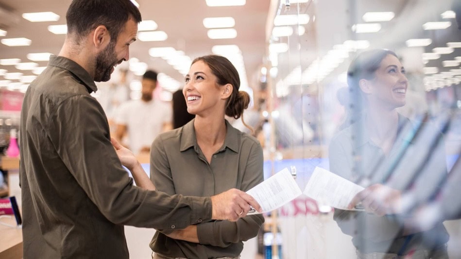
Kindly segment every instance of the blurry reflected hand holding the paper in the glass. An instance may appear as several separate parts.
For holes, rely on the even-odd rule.
[[[377,183],[356,194],[347,207],[352,210],[361,203],[365,211],[378,216],[398,213],[400,211],[400,196],[399,190]]]

